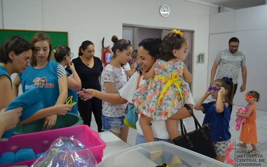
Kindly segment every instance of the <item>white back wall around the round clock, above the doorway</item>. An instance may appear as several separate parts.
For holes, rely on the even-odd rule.
[[[185,0],[2,0],[3,24],[9,29],[68,31],[69,47],[77,57],[82,41],[95,44],[95,56],[101,55],[101,40],[112,44],[112,35],[122,37],[122,24],[178,27],[195,30],[193,63],[193,96],[206,89],[207,66],[196,57],[209,48],[210,6]],[[162,17],[160,6],[170,7],[170,15]],[[1,9],[0,9],[1,10]]]

